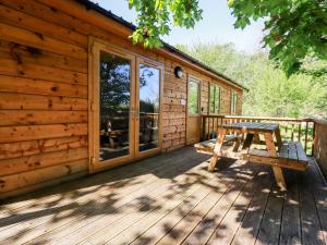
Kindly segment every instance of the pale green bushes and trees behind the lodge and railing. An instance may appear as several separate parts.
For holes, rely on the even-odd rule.
[[[247,87],[245,115],[327,118],[327,86],[322,76],[307,73],[287,77],[266,53],[245,54],[230,44],[178,48]],[[311,65],[311,70],[320,69]]]

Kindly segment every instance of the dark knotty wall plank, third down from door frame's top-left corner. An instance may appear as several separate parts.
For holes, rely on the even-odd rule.
[[[22,63],[87,73],[87,60],[75,59],[7,40],[0,40],[0,57],[5,59],[15,57]]]

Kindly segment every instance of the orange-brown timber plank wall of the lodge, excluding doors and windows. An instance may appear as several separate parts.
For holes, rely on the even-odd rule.
[[[239,87],[175,54],[133,46],[119,32],[131,30],[72,0],[0,0],[0,197],[87,174],[90,36],[165,64],[162,151],[185,145],[187,75],[202,81],[202,113],[208,84],[217,83],[221,113],[230,113],[235,90],[241,114]],[[177,65],[183,78],[175,78]]]

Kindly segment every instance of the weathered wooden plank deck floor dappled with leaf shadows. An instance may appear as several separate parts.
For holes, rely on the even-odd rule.
[[[0,244],[327,244],[327,186],[185,147],[0,206]]]

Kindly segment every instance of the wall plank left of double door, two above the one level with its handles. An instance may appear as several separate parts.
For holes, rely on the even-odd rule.
[[[87,98],[87,87],[0,75],[0,91]]]

